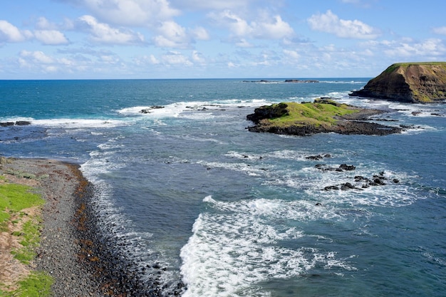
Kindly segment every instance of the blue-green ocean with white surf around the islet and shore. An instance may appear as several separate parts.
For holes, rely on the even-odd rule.
[[[165,296],[445,296],[446,105],[348,95],[368,79],[0,80],[0,122],[31,123],[0,127],[0,154],[81,165]],[[322,96],[406,129],[247,130],[256,107]]]

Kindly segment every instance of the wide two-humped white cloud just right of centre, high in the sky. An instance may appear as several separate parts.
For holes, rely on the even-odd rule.
[[[281,19],[281,16],[270,16],[263,13],[258,21],[248,22],[234,12],[226,9],[219,13],[211,13],[209,17],[220,26],[226,27],[234,36],[262,39],[281,39],[294,34],[293,28]]]

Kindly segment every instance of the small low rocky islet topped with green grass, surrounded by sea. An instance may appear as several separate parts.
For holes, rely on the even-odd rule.
[[[284,135],[313,135],[323,132],[339,134],[389,135],[401,132],[390,127],[366,122],[370,115],[383,113],[320,98],[313,103],[277,103],[256,108],[247,115],[256,125],[251,132],[271,132]]]

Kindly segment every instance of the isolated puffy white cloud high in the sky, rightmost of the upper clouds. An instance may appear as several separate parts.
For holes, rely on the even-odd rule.
[[[330,10],[326,14],[314,14],[307,21],[312,30],[332,33],[341,38],[373,39],[379,35],[378,29],[362,21],[339,19]]]

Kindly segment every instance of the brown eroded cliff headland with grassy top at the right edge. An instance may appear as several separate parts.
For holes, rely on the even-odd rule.
[[[413,103],[446,101],[446,62],[393,64],[351,95]]]

